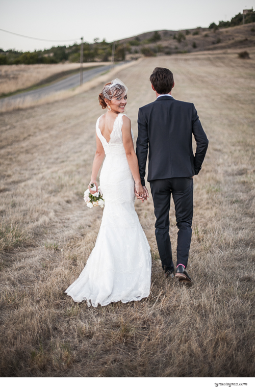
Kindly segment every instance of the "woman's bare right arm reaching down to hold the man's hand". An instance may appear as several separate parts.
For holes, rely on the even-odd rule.
[[[144,189],[142,187],[141,183],[141,177],[139,173],[139,167],[138,167],[138,161],[137,161],[137,156],[135,153],[134,149],[134,143],[132,139],[132,134],[131,134],[131,121],[129,117],[123,116],[123,125],[122,125],[122,140],[123,140],[123,146],[125,149],[126,153],[126,159],[129,164],[131,173],[133,175],[133,178],[135,180],[135,189],[136,193],[139,196],[142,196],[144,198]]]

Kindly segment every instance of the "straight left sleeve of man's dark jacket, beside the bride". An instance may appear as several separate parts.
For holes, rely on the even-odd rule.
[[[138,112],[138,137],[136,141],[136,154],[142,186],[145,186],[145,168],[148,154],[148,129],[141,108]]]

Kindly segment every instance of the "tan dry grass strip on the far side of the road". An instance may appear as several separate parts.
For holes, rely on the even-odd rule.
[[[109,63],[84,63],[83,67],[93,67],[98,65],[107,65]],[[19,64],[19,65],[1,65],[0,66],[0,95],[15,92],[17,90],[27,89],[49,76],[60,74],[62,72],[80,69],[77,63],[60,63],[60,64]]]

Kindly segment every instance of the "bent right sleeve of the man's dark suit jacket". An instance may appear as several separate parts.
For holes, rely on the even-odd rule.
[[[192,133],[196,141],[194,169],[195,169],[195,174],[198,174],[199,171],[201,170],[201,165],[203,163],[203,160],[205,159],[209,141],[207,139],[205,131],[202,128],[202,125],[200,123],[194,105],[193,105],[193,112],[192,112]]]

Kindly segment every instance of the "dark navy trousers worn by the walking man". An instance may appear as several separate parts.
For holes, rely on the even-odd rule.
[[[154,213],[157,218],[155,234],[162,268],[171,271],[173,267],[172,247],[169,236],[170,198],[173,197],[175,207],[177,237],[177,264],[187,267],[192,234],[193,218],[193,178],[176,177],[150,181],[150,189],[154,202]]]

